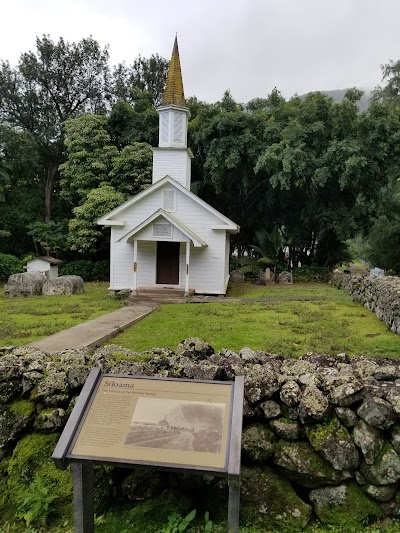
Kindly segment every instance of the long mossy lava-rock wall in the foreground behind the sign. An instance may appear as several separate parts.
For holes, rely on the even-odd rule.
[[[0,500],[9,509],[18,509],[38,476],[54,482],[50,509],[65,509],[69,473],[56,471],[49,456],[92,366],[174,378],[245,376],[243,523],[298,531],[312,517],[350,528],[400,516],[400,361],[314,353],[293,360],[250,348],[215,354],[195,338],[144,354],[115,345],[51,357],[0,349]],[[140,501],[168,483],[163,474],[103,470],[97,499]],[[184,483],[187,494],[199,482],[186,476]],[[227,501],[226,486],[209,476],[202,483],[215,512],[215,502]]]

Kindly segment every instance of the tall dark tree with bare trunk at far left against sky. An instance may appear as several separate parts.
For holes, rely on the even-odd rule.
[[[52,218],[58,166],[63,161],[62,128],[70,117],[104,110],[108,93],[108,51],[92,38],[69,43],[36,39],[36,53],[24,53],[16,68],[0,65],[0,119],[32,134],[42,160],[44,220]]]

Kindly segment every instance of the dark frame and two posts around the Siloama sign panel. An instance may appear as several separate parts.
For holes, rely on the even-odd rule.
[[[230,412],[228,415],[225,464],[221,467],[207,465],[179,464],[158,462],[154,460],[124,459],[121,457],[99,457],[74,455],[72,450],[84,427],[85,420],[93,404],[100,384],[106,378],[123,378],[130,380],[157,380],[168,382],[203,383],[230,387]],[[152,376],[131,376],[103,374],[99,368],[93,368],[82,388],[75,407],[61,434],[52,459],[57,468],[65,470],[71,465],[73,476],[74,529],[75,533],[94,532],[93,504],[93,465],[111,465],[122,468],[141,468],[174,472],[210,473],[226,477],[229,486],[228,533],[239,531],[240,507],[240,451],[242,440],[242,417],[244,398],[244,378],[236,376],[235,381],[205,381],[191,379],[160,378]]]

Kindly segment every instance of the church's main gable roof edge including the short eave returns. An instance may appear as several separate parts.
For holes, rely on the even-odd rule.
[[[230,233],[238,233],[240,228],[237,224],[235,224],[232,220],[230,220],[228,217],[217,211],[217,209],[214,209],[204,200],[201,200],[198,196],[196,196],[194,193],[183,187],[180,183],[176,182],[174,179],[172,179],[170,176],[165,176],[161,180],[157,181],[153,185],[150,185],[147,189],[142,191],[141,193],[137,194],[127,202],[121,204],[119,207],[113,209],[103,217],[101,217],[97,224],[103,225],[103,226],[124,226],[125,222],[123,220],[123,215],[126,211],[132,209],[136,204],[143,201],[145,198],[151,196],[156,191],[158,191],[160,188],[162,188],[166,184],[170,184],[172,187],[180,191],[182,194],[187,196],[190,200],[193,202],[196,202],[198,205],[206,209],[209,213],[216,216],[220,221],[220,225],[214,225],[212,226],[212,229],[218,229],[218,230],[226,230]],[[170,214],[170,216],[172,216]]]

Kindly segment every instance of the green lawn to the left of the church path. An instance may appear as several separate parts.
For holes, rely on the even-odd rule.
[[[110,313],[123,302],[108,298],[106,282],[85,283],[83,294],[5,298],[0,292],[0,346],[23,345]]]

